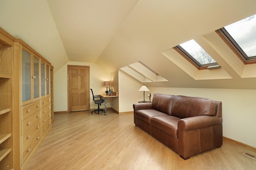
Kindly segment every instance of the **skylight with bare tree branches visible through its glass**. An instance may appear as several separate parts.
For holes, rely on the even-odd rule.
[[[194,39],[174,47],[183,57],[190,59],[192,64],[199,68],[216,65],[216,61]]]

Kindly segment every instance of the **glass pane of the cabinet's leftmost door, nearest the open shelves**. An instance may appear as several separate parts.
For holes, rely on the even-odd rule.
[[[31,100],[31,54],[22,49],[22,102]]]

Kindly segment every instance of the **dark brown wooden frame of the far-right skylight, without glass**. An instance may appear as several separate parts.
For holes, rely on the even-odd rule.
[[[216,30],[216,33],[222,38],[222,40],[228,45],[228,47],[230,47],[230,49],[244,64],[256,63],[256,56],[248,57],[224,27]]]

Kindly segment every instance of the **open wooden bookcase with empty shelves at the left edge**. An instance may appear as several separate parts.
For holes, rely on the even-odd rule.
[[[0,28],[0,170],[13,168],[13,45],[14,37]]]

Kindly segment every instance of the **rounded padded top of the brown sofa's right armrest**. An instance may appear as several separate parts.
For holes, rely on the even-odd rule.
[[[222,123],[222,117],[215,116],[195,116],[181,119],[178,122],[178,131],[188,131],[193,129],[200,129]]]

